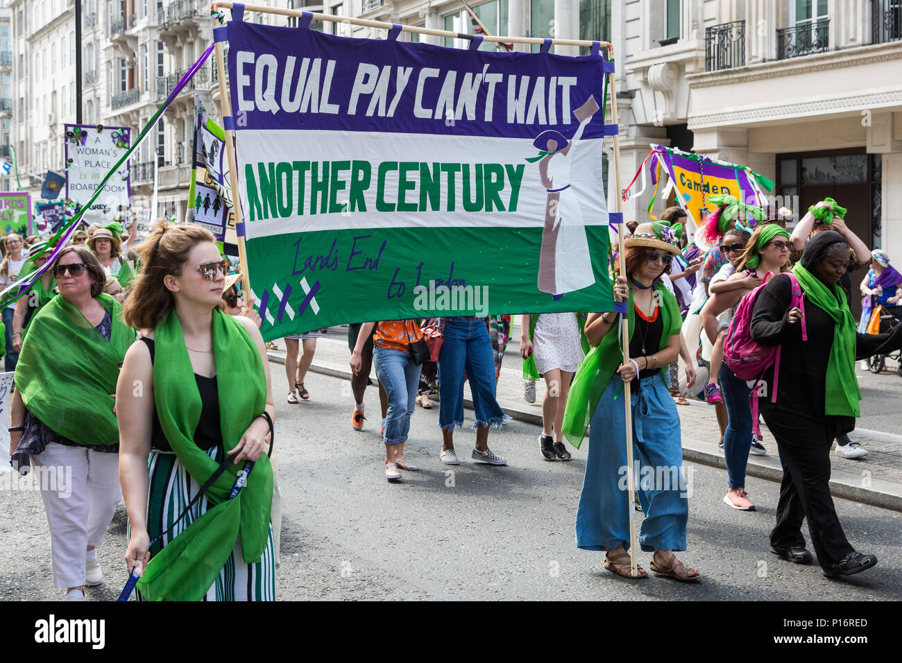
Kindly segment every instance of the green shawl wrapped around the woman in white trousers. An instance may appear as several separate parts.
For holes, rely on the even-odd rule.
[[[15,366],[25,407],[51,430],[79,445],[115,445],[113,413],[119,363],[134,342],[122,322],[122,305],[101,292],[97,300],[113,318],[109,341],[78,307],[54,297],[32,317],[28,341]]]

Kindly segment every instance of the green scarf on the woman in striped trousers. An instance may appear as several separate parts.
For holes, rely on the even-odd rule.
[[[257,346],[241,323],[213,311],[213,351],[223,446],[230,452],[266,405],[266,380]],[[170,312],[154,332],[153,394],[166,439],[195,481],[203,484],[217,463],[194,443],[202,403],[179,317]],[[229,465],[207,489],[210,508],[152,557],[138,581],[151,601],[199,601],[226,565],[241,535],[244,562],[257,562],[269,540],[272,465],[261,456],[234,500],[228,494],[244,464]]]

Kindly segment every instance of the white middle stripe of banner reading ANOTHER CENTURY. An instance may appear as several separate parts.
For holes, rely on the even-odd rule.
[[[548,191],[538,163],[526,161],[538,154],[526,139],[361,132],[350,140],[339,132],[303,130],[243,130],[238,136],[238,171],[249,239],[347,227],[435,228],[437,219],[443,227],[544,224]],[[603,187],[599,185],[602,152],[601,138],[580,140],[571,146],[572,159],[555,162],[562,164],[553,173],[556,184],[563,188],[570,185],[581,203],[583,218],[579,225],[608,223]],[[430,160],[422,161],[430,174],[434,164],[446,164],[445,170],[438,170],[435,203],[421,195],[419,162],[410,161],[418,155]],[[402,162],[410,165],[404,175],[404,195],[400,196],[398,164]],[[482,179],[477,178],[475,164],[481,164]],[[491,181],[484,164],[497,164],[492,166]],[[463,169],[467,169],[466,180]],[[474,211],[465,209],[465,183],[470,189],[468,198],[482,200]],[[249,189],[256,192],[253,200],[248,198]],[[312,200],[311,189],[316,189]],[[398,211],[399,203],[406,204],[410,211]],[[449,209],[451,203],[453,210]],[[326,213],[322,213],[324,204]]]

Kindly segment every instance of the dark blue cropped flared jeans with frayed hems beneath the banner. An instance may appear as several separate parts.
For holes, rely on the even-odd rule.
[[[464,373],[470,381],[473,428],[501,427],[511,419],[495,400],[495,359],[483,318],[445,318],[445,342],[438,354],[438,427],[464,426]]]

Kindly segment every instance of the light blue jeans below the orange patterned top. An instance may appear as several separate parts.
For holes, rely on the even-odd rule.
[[[410,417],[417,403],[419,372],[423,367],[414,364],[409,353],[378,345],[373,347],[373,364],[376,364],[376,376],[389,396],[389,409],[385,414],[385,444],[407,442]]]

